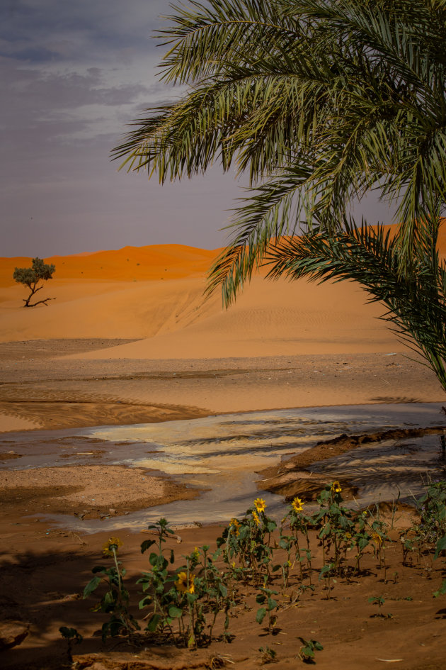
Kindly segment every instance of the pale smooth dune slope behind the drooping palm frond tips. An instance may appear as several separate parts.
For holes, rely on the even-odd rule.
[[[189,313],[188,323],[160,323],[160,333],[149,339],[73,357],[231,358],[404,350],[375,318],[383,308],[365,305],[365,299],[348,282],[316,286],[255,277],[228,311],[215,296],[195,308],[195,317]]]

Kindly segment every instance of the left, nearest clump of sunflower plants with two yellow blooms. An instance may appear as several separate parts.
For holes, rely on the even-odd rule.
[[[149,553],[150,569],[142,574],[137,584],[142,585],[143,598],[139,609],[149,608],[144,617],[147,620],[145,632],[156,635],[161,640],[171,640],[175,644],[185,644],[193,648],[208,644],[219,613],[224,615],[223,637],[229,638],[229,611],[234,601],[228,595],[225,576],[216,568],[209,555],[210,547],[195,547],[192,554],[185,557],[185,566],[175,571],[169,570],[169,564],[175,562],[173,549],[165,547],[173,530],[168,521],[161,518],[148,530],[157,536],[156,540],[144,540],[141,552]],[[110,614],[110,620],[104,622],[103,640],[108,635],[127,635],[135,639],[135,631],[140,630],[139,623],[130,613],[130,596],[124,586],[125,569],[118,561],[118,548],[122,542],[110,537],[105,544],[104,553],[113,557],[113,566],[96,566],[95,576],[84,589],[84,598],[96,591],[105,581],[108,590],[93,611]],[[167,552],[168,559],[164,556]]]

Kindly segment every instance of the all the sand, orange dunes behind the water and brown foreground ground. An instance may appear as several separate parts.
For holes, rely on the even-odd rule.
[[[202,297],[205,272],[216,253],[162,245],[46,258],[55,263],[56,272],[41,293],[56,299],[31,310],[22,308],[26,291],[12,280],[14,267],[26,267],[30,259],[1,259],[0,431],[158,422],[275,408],[444,402],[435,375],[377,318],[384,308],[367,303],[367,294],[355,284],[316,286],[257,276],[226,311],[219,295],[207,301]],[[49,510],[72,514],[88,486],[92,495],[92,482],[103,495],[98,496],[99,515],[114,513],[110,510],[115,508],[120,513],[122,488],[132,493],[125,498],[126,509],[149,506],[156,497],[181,500],[190,497],[190,491],[150,473],[101,471],[94,461],[86,469],[72,466],[66,473],[55,473],[46,468],[39,473],[14,469],[15,459],[6,447],[2,458],[11,479],[0,487],[6,547],[6,595],[0,612],[2,618],[30,622],[25,641],[3,653],[5,667],[62,667],[66,659],[59,625],[83,629],[88,642],[78,667],[95,670],[217,667],[220,661],[212,665],[212,654],[226,654],[233,663],[227,661],[229,666],[251,670],[263,666],[258,648],[276,643],[276,667],[285,669],[300,665],[295,660],[296,635],[324,638],[325,649],[317,659],[322,670],[382,667],[384,662],[377,658],[402,657],[404,662],[397,663],[401,668],[442,667],[444,610],[433,602],[433,588],[426,588],[423,570],[407,575],[412,580],[408,595],[416,601],[408,603],[403,579],[398,583],[395,578],[392,586],[381,584],[372,562],[370,584],[361,581],[355,594],[340,586],[336,601],[307,598],[303,613],[300,606],[287,610],[282,633],[274,640],[240,615],[235,625],[239,633],[229,646],[219,642],[195,655],[157,648],[141,656],[138,650],[118,645],[111,655],[107,647],[104,656],[91,637],[98,627],[97,615],[88,613],[79,592],[91,567],[101,560],[107,538],[103,533],[84,536],[52,527],[36,521],[33,511],[45,501]],[[151,496],[140,484],[143,477],[151,482]],[[179,554],[185,554],[198,542],[215,540],[221,529],[178,532],[183,540]],[[126,530],[125,518],[119,535],[125,541],[122,555],[134,575],[147,566],[139,555],[144,536]],[[398,564],[396,549],[391,561]],[[436,566],[437,582],[440,576],[441,566]],[[394,601],[395,619],[370,619],[371,588],[386,591]],[[293,633],[296,616],[299,629]],[[339,617],[342,630],[336,625]],[[408,638],[410,654],[404,642]]]

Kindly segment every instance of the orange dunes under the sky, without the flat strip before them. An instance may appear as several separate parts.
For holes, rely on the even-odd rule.
[[[446,249],[446,235],[441,239]],[[13,268],[28,258],[1,260],[0,340],[126,338],[139,342],[84,358],[215,358],[404,350],[379,304],[366,304],[357,284],[316,286],[255,277],[225,311],[219,294],[202,298],[216,251],[183,245],[124,247],[52,257],[55,279],[42,296],[49,306],[23,309]]]

